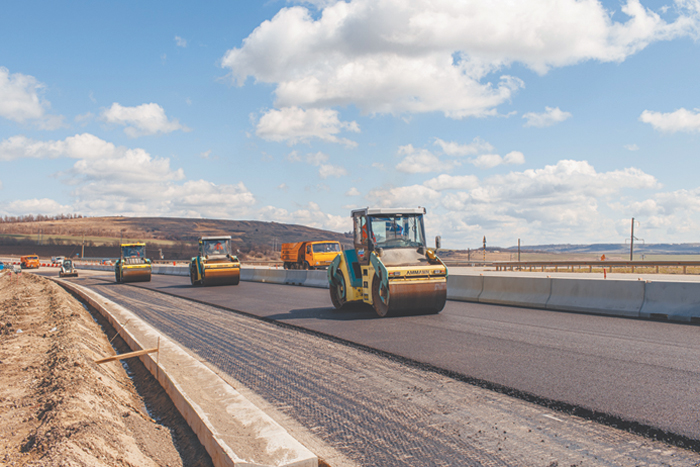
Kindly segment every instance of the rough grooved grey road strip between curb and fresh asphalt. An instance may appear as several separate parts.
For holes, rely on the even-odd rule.
[[[295,436],[333,467],[700,465],[697,452],[299,328],[147,288],[77,282],[252,390],[273,418],[295,420]]]

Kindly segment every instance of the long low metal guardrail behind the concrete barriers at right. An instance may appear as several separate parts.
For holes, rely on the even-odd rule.
[[[700,274],[700,261],[502,261],[484,265],[497,271]]]

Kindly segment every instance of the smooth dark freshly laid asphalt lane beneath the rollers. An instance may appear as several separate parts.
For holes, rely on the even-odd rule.
[[[438,315],[377,318],[371,309],[334,310],[325,289],[200,288],[178,276],[136,285],[335,336],[584,416],[605,414],[607,423],[700,440],[695,325],[453,301]]]

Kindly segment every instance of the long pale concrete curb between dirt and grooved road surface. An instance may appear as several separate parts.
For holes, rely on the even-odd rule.
[[[217,467],[318,467],[318,457],[207,366],[135,314],[101,295],[49,278],[98,310],[139,357],[197,434]],[[128,330],[127,330],[128,325]],[[187,388],[205,388],[191,390]]]

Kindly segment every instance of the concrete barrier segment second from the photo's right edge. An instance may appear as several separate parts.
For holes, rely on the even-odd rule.
[[[644,302],[644,281],[550,279],[547,310],[578,311],[638,318]]]

